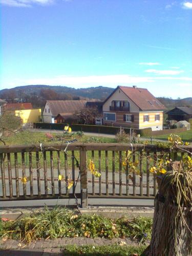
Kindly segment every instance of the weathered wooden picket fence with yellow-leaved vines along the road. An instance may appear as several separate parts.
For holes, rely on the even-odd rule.
[[[139,176],[122,164],[128,150],[133,152],[132,161],[139,161]],[[180,159],[188,154],[185,150],[192,152],[181,146],[172,151],[172,158]],[[1,146],[0,200],[76,198],[86,207],[89,198],[153,199],[158,187],[150,159],[166,151],[156,145],[117,143]],[[99,178],[91,174],[90,160]]]

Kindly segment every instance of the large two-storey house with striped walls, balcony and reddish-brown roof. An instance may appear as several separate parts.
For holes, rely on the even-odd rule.
[[[103,102],[103,124],[162,130],[165,109],[147,89],[118,86]]]

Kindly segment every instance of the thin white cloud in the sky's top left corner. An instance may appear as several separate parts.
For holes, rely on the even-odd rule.
[[[31,7],[32,4],[50,5],[55,0],[0,0],[0,4],[13,7]]]

